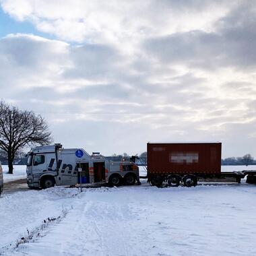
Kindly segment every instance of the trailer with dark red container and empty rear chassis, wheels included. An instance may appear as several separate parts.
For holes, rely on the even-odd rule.
[[[246,175],[250,177],[251,183],[256,180],[256,172],[253,170],[221,172],[220,142],[149,142],[147,152],[148,182],[157,187],[161,187],[163,183],[170,187],[178,187],[181,183],[192,187],[199,180],[240,183]]]

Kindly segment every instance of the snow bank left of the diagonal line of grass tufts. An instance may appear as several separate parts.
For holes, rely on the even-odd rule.
[[[77,189],[55,187],[1,196],[0,255],[11,251],[22,237],[41,226],[44,220],[58,218],[68,212],[77,192]]]

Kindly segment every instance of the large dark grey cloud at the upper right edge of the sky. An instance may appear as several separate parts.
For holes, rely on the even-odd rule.
[[[255,68],[256,12],[240,5],[216,22],[216,32],[195,30],[146,40],[149,55],[164,63],[217,69],[224,66]]]

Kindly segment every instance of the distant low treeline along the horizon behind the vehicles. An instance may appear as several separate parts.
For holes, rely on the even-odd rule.
[[[106,158],[110,161],[122,161],[129,160],[130,156],[128,154],[113,154],[112,156],[106,156]],[[8,164],[7,156],[4,152],[0,152],[0,161],[2,164]],[[136,160],[137,164],[147,164],[147,152],[143,152],[139,155],[139,159]],[[13,164],[24,165],[27,163],[26,154],[20,152],[14,159]],[[253,158],[251,154],[246,154],[242,157],[231,157],[222,159],[222,165],[256,165],[256,158]]]

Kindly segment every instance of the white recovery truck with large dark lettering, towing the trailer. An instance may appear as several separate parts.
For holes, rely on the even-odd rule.
[[[81,181],[115,186],[133,185],[136,181],[139,184],[139,168],[134,162],[109,161],[99,153],[90,156],[83,149],[64,149],[61,144],[38,146],[28,153],[27,183],[28,187],[44,189]]]

